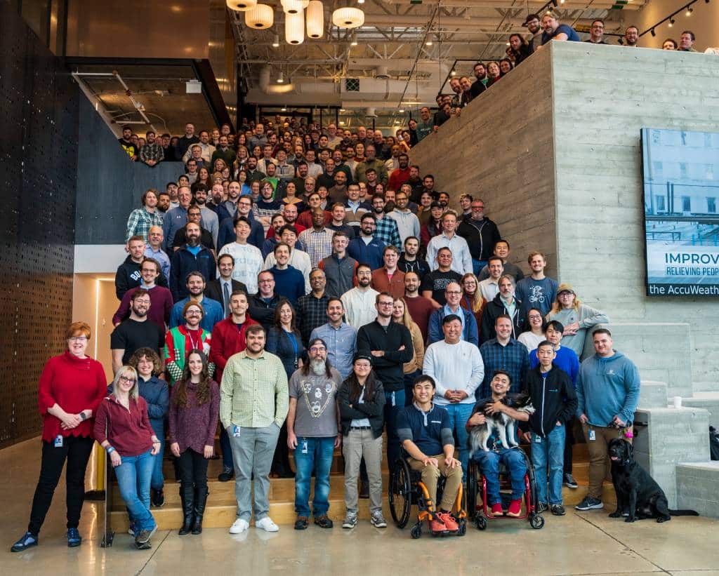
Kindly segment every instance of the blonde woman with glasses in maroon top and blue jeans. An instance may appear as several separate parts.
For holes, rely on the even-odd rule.
[[[150,548],[150,537],[157,530],[150,513],[150,480],[160,440],[150,425],[132,366],[122,366],[115,374],[111,394],[97,409],[95,437],[115,470],[135,544],[141,550]]]

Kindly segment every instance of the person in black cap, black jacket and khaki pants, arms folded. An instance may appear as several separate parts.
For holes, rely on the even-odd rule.
[[[382,432],[385,425],[385,390],[372,371],[372,357],[358,354],[352,373],[337,392],[342,455],[344,456],[344,506],[342,528],[357,526],[357,478],[365,460],[369,478],[370,521],[385,528],[382,514]]]

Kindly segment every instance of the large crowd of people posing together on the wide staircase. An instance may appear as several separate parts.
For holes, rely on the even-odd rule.
[[[608,317],[580,302],[571,285],[546,277],[540,252],[528,254],[525,276],[485,203],[464,193],[459,210],[449,209],[449,194],[434,189],[431,175],[421,177],[402,148],[387,149],[380,131],[272,126],[258,123],[234,138],[230,180],[220,174],[209,188],[200,177],[189,183],[188,165],[165,193],[147,190],[129,216],[128,255],[115,282],[114,378],[108,386],[101,365],[86,356],[88,325],[71,325],[68,350],[48,361],[40,379],[42,470],[14,551],[37,544],[65,461],[68,545],[81,543],[81,484],[93,440],[115,468],[137,547],[149,547],[157,528],[152,507],[164,503],[163,457],[173,459],[180,486],[180,534],[200,534],[218,423],[218,480],[236,483],[232,534],[246,530],[253,513],[258,528],[278,529],[269,516],[270,475],[295,478],[296,529],[310,518],[331,527],[329,475],[339,447],[342,525],[357,524],[364,496],[372,524],[386,526],[384,432],[390,471],[408,457],[433,490],[440,474],[452,478],[433,521],[433,529],[452,529],[452,491],[469,461],[467,429],[510,410],[503,396],[519,391],[537,409],[523,437],[543,470],[540,508],[564,514],[562,483],[577,486],[574,419],[591,460],[590,495],[578,508],[602,506],[606,444],[631,427],[638,396],[636,368],[613,350],[608,330],[595,330],[595,354],[580,366],[587,331]],[[190,149],[193,131],[188,124],[180,147]],[[261,144],[262,158],[240,157],[243,140]],[[291,164],[285,144],[296,144]],[[209,149],[202,148],[200,156]],[[308,162],[315,152],[319,163]],[[357,152],[360,161],[352,161]],[[499,438],[491,446],[475,458],[493,514],[504,514],[489,479],[499,460],[513,480],[523,468],[516,449]],[[518,514],[518,496],[506,514]]]

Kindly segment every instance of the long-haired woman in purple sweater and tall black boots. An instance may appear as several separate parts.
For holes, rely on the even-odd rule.
[[[207,502],[207,464],[219,417],[219,386],[210,377],[207,357],[191,350],[170,399],[170,451],[178,458],[183,525],[180,535],[201,534]]]

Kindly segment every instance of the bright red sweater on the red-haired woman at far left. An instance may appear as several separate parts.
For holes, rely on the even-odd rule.
[[[92,419],[64,430],[60,427],[60,419],[47,410],[58,404],[68,414],[78,414],[89,408],[94,416],[106,394],[107,379],[98,361],[78,358],[67,350],[50,358],[42,369],[37,394],[37,405],[42,414],[42,440],[52,442],[58,435],[92,437]]]

